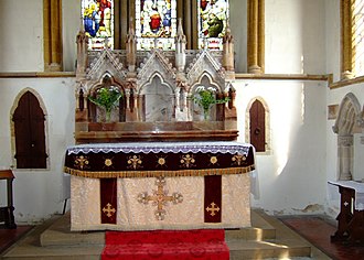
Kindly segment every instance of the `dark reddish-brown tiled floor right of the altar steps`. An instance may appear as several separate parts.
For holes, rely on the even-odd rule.
[[[319,216],[281,217],[287,226],[296,230],[308,241],[323,251],[332,259],[351,260],[364,259],[364,245],[344,245],[331,242],[330,236],[334,235],[336,227],[332,220]]]

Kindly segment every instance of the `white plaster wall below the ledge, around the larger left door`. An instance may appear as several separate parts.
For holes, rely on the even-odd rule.
[[[17,107],[14,102],[19,93],[32,89],[45,107],[49,169],[13,169],[17,223],[39,221],[63,209],[63,198],[67,191],[63,175],[64,151],[74,143],[73,86],[74,78],[0,79],[0,117],[3,119],[0,120],[1,167],[13,166],[10,115]]]

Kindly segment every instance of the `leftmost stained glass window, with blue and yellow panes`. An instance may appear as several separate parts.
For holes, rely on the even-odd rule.
[[[114,47],[114,0],[83,0],[82,18],[89,50]]]

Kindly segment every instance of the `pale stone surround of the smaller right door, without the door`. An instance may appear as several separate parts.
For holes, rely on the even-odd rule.
[[[253,104],[258,100],[264,109],[265,109],[265,140],[266,140],[266,148],[265,152],[269,154],[271,151],[271,140],[270,140],[270,110],[268,107],[268,104],[263,97],[254,97],[250,99],[250,101],[247,105],[246,111],[245,111],[245,142],[250,142],[250,108]]]

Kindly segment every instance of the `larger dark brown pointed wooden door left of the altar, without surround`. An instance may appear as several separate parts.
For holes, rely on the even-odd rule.
[[[38,98],[26,91],[13,118],[18,169],[46,169],[44,112]]]

